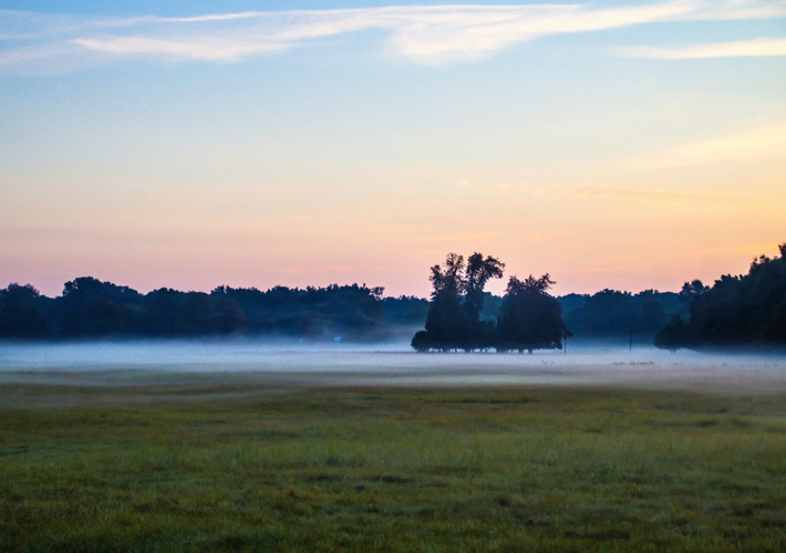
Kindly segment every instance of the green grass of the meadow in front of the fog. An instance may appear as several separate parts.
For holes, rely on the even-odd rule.
[[[782,395],[3,385],[0,424],[1,551],[786,550]]]

